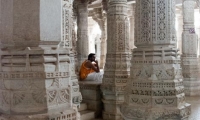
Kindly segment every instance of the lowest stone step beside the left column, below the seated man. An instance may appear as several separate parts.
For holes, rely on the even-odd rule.
[[[94,111],[84,110],[84,111],[80,111],[80,114],[81,114],[81,120],[94,120],[95,119]]]

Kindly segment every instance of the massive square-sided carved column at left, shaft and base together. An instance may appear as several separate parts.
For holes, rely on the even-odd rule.
[[[1,120],[78,119],[72,2],[0,0]]]

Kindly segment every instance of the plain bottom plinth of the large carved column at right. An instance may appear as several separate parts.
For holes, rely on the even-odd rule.
[[[188,120],[191,113],[190,104],[185,104],[180,108],[147,108],[141,106],[121,107],[124,120]]]

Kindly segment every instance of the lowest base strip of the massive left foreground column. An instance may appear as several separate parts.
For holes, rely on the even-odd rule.
[[[0,114],[0,120],[79,120],[79,117],[79,113],[75,110],[67,110],[60,113],[46,113],[35,115]]]

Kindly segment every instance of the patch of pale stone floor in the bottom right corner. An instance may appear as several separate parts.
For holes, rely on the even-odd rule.
[[[200,97],[186,97],[186,101],[190,103],[192,107],[189,120],[200,120]]]

